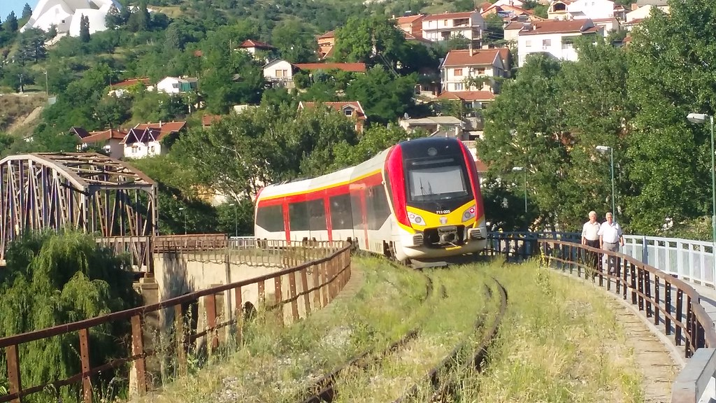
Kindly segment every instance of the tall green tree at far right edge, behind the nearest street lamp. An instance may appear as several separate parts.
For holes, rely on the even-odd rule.
[[[716,110],[716,4],[675,1],[670,16],[652,9],[629,46],[629,93],[636,105],[629,136],[629,178],[638,186],[627,212],[634,228],[654,232],[710,215],[710,133],[691,112]]]

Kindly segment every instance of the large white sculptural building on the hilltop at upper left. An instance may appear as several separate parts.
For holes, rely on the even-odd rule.
[[[32,16],[27,24],[21,27],[20,32],[29,28],[39,28],[47,32],[54,25],[59,35],[79,37],[79,17],[82,15],[89,19],[90,34],[104,31],[107,29],[105,18],[112,5],[122,9],[122,5],[116,0],[39,0]]]

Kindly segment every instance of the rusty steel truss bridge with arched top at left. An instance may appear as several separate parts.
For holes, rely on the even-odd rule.
[[[79,229],[130,252],[150,270],[157,186],[126,163],[98,153],[31,153],[0,160],[0,261],[23,232]]]

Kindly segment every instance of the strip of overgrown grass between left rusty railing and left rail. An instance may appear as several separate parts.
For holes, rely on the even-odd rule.
[[[410,270],[384,265],[376,258],[354,258],[364,286],[330,313],[319,311],[293,326],[276,317],[258,316],[248,323],[244,344],[192,376],[150,392],[147,402],[295,402],[309,385],[353,356],[385,349],[420,316],[417,301],[425,279]],[[217,361],[223,361],[220,365]]]

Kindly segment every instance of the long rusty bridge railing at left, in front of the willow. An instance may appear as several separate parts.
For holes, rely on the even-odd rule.
[[[218,237],[214,240],[210,238],[207,238],[207,243],[182,243],[174,239],[168,244],[160,245],[180,243],[184,247],[188,245],[218,247]],[[212,244],[212,242],[216,243]],[[350,278],[351,247],[350,245],[339,249],[334,246],[326,249],[314,247],[313,250],[322,251],[322,256],[258,278],[208,288],[163,300],[160,303],[122,310],[84,321],[0,338],[0,349],[2,349],[0,351],[5,353],[6,379],[9,386],[8,392],[0,395],[0,402],[19,403],[23,397],[30,394],[48,389],[59,391],[61,387],[67,386],[75,388],[72,390],[79,395],[80,400],[92,402],[93,399],[97,399],[95,396],[97,390],[93,389],[93,386],[101,385],[102,379],[106,381],[113,376],[127,376],[127,370],[131,374],[130,384],[135,385],[135,393],[145,394],[153,386],[147,368],[151,357],[163,354],[161,360],[163,363],[166,363],[169,357],[178,369],[178,373],[186,374],[187,358],[191,352],[200,351],[203,347],[213,351],[218,349],[220,343],[232,342],[241,345],[242,322],[248,299],[246,295],[258,295],[255,301],[256,308],[274,310],[277,317],[282,319],[287,317],[297,320],[301,314],[306,316],[314,310],[323,308],[335,298]],[[235,301],[233,312],[221,312],[226,305],[220,301],[226,293],[230,293],[227,295],[233,293]],[[204,307],[203,312],[198,313],[200,318],[191,317],[192,306]],[[166,351],[159,351],[157,346],[153,345],[155,343],[152,342],[152,334],[147,331],[147,321],[150,322],[162,311],[172,312],[174,318],[173,326],[164,333],[172,340],[168,343],[170,347]],[[97,326],[109,323],[115,328],[124,325],[131,329],[125,341],[126,354],[107,362],[92,361],[93,355],[89,354],[93,348],[92,335],[97,331]],[[198,323],[203,323],[203,328],[200,328]],[[226,332],[220,333],[221,329]],[[23,369],[37,364],[24,359],[23,355],[27,347],[34,345],[33,347],[37,349],[39,341],[68,334],[76,340],[73,348],[79,352],[77,360],[82,371],[66,379],[48,380],[45,384],[32,386],[22,384]],[[122,343],[121,340],[118,342]]]

